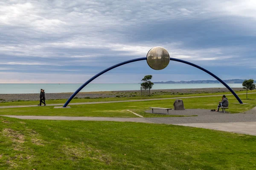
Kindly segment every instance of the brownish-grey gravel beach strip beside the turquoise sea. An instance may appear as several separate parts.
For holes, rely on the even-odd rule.
[[[233,88],[234,91],[244,90],[243,88]],[[179,94],[199,94],[229,92],[227,88],[200,88],[200,89],[154,89],[151,95],[179,95]],[[63,93],[45,93],[46,100],[68,99],[73,92]],[[145,91],[143,90],[143,95]],[[100,92],[79,92],[77,98],[113,98],[113,97],[140,97],[140,90],[122,90],[122,91],[100,91]],[[39,93],[28,94],[0,94],[0,100],[5,101],[38,101]],[[0,101],[0,102],[1,102]]]

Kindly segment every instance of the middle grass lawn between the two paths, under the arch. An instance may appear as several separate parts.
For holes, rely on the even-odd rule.
[[[230,109],[228,112],[238,113],[245,112],[256,106],[256,94],[250,94],[250,98],[246,99],[246,95],[239,95],[242,101],[247,104],[239,104],[236,98],[228,96]],[[186,109],[216,109],[219,96],[204,98],[184,98],[183,102]],[[157,101],[138,101],[138,102],[122,102],[110,104],[84,104],[71,105],[71,109],[54,109],[51,106],[46,107],[23,107],[0,109],[0,115],[50,115],[50,116],[93,116],[93,117],[137,117],[128,112],[127,109],[139,112],[144,117],[161,117],[169,115],[158,115],[145,113],[149,107],[173,107],[175,99],[157,100]],[[141,112],[143,111],[143,112]]]

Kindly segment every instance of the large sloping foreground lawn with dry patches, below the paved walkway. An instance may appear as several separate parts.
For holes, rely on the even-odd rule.
[[[0,170],[256,169],[251,135],[131,122],[0,122]]]

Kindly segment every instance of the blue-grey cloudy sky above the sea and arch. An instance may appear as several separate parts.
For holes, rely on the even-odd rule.
[[[256,79],[255,0],[1,0],[0,83],[84,83],[154,46],[222,79]],[[138,61],[93,83],[213,80],[171,61]]]

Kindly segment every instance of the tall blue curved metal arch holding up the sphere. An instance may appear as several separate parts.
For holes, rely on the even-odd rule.
[[[133,59],[133,60],[128,60],[128,61],[125,61],[125,62],[122,62],[122,63],[118,63],[114,66],[111,66],[109,67],[108,69],[105,69],[103,70],[102,72],[99,72],[98,74],[94,75],[92,78],[90,78],[88,81],[86,81],[81,87],[79,87],[79,89],[76,90],[76,92],[73,93],[73,95],[70,96],[70,98],[66,101],[66,103],[63,105],[63,107],[67,107],[67,105],[70,103],[70,101],[77,95],[78,92],[81,91],[81,89],[83,89],[87,84],[89,84],[91,81],[93,81],[95,78],[99,77],[100,75],[104,74],[105,72],[108,72],[110,71],[111,69],[114,69],[116,67],[119,67],[119,66],[122,66],[122,65],[125,65],[125,64],[128,64],[128,63],[132,63],[132,62],[135,62],[135,61],[142,61],[142,60],[147,60],[146,57],[143,57],[143,58],[136,58],[136,59]],[[243,102],[241,101],[241,99],[238,97],[238,95],[236,95],[236,93],[233,91],[233,89],[230,88],[230,86],[228,86],[224,81],[222,81],[220,78],[218,78],[216,75],[212,74],[212,72],[209,72],[207,69],[204,69],[203,67],[201,66],[198,66],[196,64],[193,64],[193,63],[190,63],[188,61],[184,61],[184,60],[180,60],[180,59],[177,59],[177,58],[170,58],[171,61],[177,61],[177,62],[181,62],[181,63],[185,63],[185,64],[188,64],[190,66],[194,66],[198,69],[201,69],[203,70],[204,72],[207,72],[209,75],[211,75],[212,77],[216,78],[218,81],[220,81],[225,87],[227,87],[227,89],[230,90],[230,92],[232,92],[232,94],[236,97],[236,99],[239,101],[240,104],[243,104]]]

